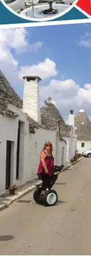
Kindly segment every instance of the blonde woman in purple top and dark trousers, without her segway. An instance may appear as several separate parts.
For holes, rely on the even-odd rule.
[[[40,153],[40,163],[38,165],[37,175],[41,176],[42,187],[41,195],[45,195],[46,189],[50,189],[50,183],[54,170],[54,157],[52,154],[53,145],[50,141],[46,142]]]

